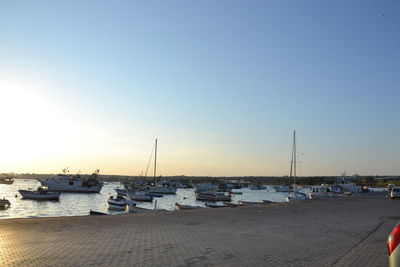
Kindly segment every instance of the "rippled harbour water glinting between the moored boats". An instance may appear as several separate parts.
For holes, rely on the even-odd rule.
[[[59,201],[37,201],[22,199],[19,189],[36,189],[40,186],[37,180],[16,179],[12,185],[0,184],[0,197],[6,197],[11,202],[11,207],[0,210],[0,219],[6,218],[33,218],[33,217],[61,217],[88,215],[95,210],[110,214],[121,214],[124,211],[109,210],[106,200],[111,195],[116,195],[115,188],[123,188],[120,183],[106,183],[98,194],[62,193]],[[266,190],[250,190],[248,188],[234,190],[243,192],[242,195],[232,195],[232,202],[239,200],[274,202],[285,201],[286,193],[277,193],[271,187]],[[17,197],[16,197],[17,196]],[[204,206],[205,202],[197,201],[193,189],[178,189],[176,195],[164,195],[157,200],[158,209],[174,210],[175,203],[185,205]],[[138,207],[153,209],[153,203],[138,203]]]

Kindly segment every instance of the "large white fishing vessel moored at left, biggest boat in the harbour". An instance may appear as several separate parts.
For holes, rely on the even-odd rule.
[[[58,174],[56,179],[42,180],[40,183],[47,186],[50,191],[76,192],[76,193],[99,193],[103,183],[97,180],[99,170],[96,170],[89,178],[82,178],[79,174],[71,176],[68,169],[63,174]]]

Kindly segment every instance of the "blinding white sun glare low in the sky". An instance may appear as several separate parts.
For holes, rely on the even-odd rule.
[[[1,171],[19,169],[24,162],[45,156],[63,135],[57,129],[55,106],[44,95],[39,83],[18,79],[0,82]]]

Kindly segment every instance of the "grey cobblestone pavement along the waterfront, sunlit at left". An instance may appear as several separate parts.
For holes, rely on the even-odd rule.
[[[387,266],[381,193],[118,216],[0,220],[0,266]]]

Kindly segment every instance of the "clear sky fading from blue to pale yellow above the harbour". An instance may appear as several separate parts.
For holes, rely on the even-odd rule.
[[[0,173],[400,175],[400,1],[1,1]],[[151,170],[151,169],[150,169]],[[150,172],[150,171],[149,171]]]

